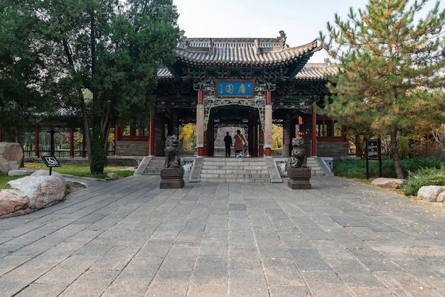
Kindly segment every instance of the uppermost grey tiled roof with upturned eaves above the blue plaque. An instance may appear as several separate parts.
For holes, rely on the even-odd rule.
[[[277,38],[186,38],[176,48],[178,60],[194,65],[268,66],[294,62],[321,49],[318,42],[289,48],[286,35]]]

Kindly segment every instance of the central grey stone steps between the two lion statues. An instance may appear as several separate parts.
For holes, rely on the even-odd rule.
[[[265,158],[204,158],[200,182],[271,183]]]

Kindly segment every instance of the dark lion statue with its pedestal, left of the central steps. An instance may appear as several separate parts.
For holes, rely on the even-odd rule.
[[[166,139],[166,163],[161,169],[161,189],[181,189],[184,187],[184,170],[181,166],[181,158],[178,156],[179,141],[176,135]]]

